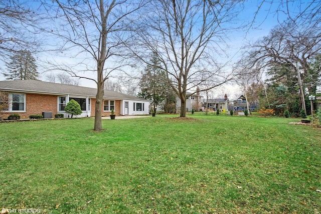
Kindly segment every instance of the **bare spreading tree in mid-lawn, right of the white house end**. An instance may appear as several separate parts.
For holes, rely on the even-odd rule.
[[[232,19],[241,2],[159,0],[150,4],[150,13],[146,13],[143,27],[137,32],[139,37],[133,37],[138,48],[130,48],[147,64],[148,54],[156,54],[159,67],[166,71],[181,100],[181,117],[186,116],[189,89],[211,77],[222,84],[230,79],[213,65],[217,64],[215,56],[224,54],[218,44],[224,44],[226,33],[232,30]]]

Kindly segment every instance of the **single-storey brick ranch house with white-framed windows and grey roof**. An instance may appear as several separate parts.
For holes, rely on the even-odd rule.
[[[9,108],[0,115],[3,119],[11,114],[19,114],[22,119],[30,115],[52,115],[63,113],[66,104],[76,100],[82,110],[81,115],[74,117],[94,117],[97,89],[43,82],[40,80],[12,80],[0,81],[0,91],[9,96]],[[111,109],[115,115],[144,115],[149,114],[149,101],[105,90],[103,98],[102,116],[109,116]],[[49,113],[49,114],[48,114]]]

